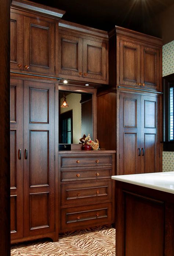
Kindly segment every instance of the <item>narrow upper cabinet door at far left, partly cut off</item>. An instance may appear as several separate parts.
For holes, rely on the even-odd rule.
[[[10,15],[10,68],[23,70],[23,16]]]

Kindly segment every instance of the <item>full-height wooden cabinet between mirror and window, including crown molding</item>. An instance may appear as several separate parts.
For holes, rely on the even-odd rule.
[[[109,140],[107,146],[116,149],[117,174],[160,172],[162,40],[116,26],[109,33],[109,49],[111,89],[108,94],[98,94],[102,113],[98,114],[98,139],[102,145],[103,138]],[[112,113],[106,125],[102,121],[109,120],[105,107]],[[110,136],[113,133],[116,143]]]

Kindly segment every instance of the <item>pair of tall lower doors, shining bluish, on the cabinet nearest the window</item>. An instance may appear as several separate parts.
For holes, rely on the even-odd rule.
[[[117,174],[161,171],[161,98],[120,92]]]

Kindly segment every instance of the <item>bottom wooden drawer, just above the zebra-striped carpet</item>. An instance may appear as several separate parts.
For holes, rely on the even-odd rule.
[[[96,226],[112,221],[112,203],[72,207],[61,211],[61,231]]]

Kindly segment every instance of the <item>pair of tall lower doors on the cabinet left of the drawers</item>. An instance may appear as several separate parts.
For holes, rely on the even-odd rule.
[[[11,239],[55,229],[54,84],[11,79]]]

